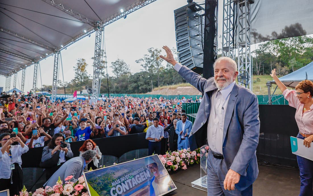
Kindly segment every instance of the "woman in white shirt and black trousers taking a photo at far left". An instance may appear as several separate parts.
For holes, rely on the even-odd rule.
[[[21,155],[28,151],[19,137],[10,138],[10,133],[0,135],[0,190],[10,190],[10,196],[19,195],[23,188],[23,171]],[[14,145],[18,142],[20,145]]]

